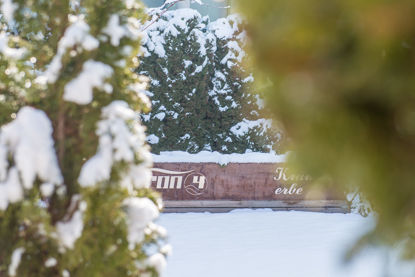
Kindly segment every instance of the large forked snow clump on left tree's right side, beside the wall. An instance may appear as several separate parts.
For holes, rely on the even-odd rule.
[[[122,176],[123,186],[150,186],[151,155],[145,147],[144,128],[137,122],[138,114],[124,101],[114,101],[102,109],[96,130],[98,151],[82,166],[78,178],[81,186],[94,186],[109,180],[114,163],[121,161],[131,163]]]

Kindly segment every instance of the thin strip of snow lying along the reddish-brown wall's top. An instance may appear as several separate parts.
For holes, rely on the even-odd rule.
[[[219,152],[201,151],[197,154],[189,154],[183,151],[160,152],[153,154],[155,163],[283,163],[286,154],[248,152],[244,154],[222,154]]]

